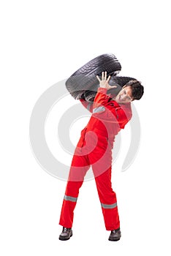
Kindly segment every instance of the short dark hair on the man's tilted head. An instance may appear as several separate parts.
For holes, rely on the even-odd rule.
[[[132,87],[132,98],[133,99],[140,99],[144,93],[144,87],[142,86],[141,82],[138,80],[130,80],[126,83],[126,86]]]

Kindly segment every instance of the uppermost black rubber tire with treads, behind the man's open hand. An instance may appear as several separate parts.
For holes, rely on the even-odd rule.
[[[87,91],[97,91],[99,81],[96,75],[101,75],[102,71],[107,71],[107,75],[113,76],[121,71],[121,64],[115,55],[102,54],[88,61],[66,80],[66,89],[72,97],[81,99]]]

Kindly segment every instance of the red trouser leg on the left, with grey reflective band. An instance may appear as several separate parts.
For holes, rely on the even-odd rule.
[[[89,167],[90,165],[86,156],[73,157],[59,221],[59,225],[63,227],[72,227],[79,189],[83,184],[84,176]]]

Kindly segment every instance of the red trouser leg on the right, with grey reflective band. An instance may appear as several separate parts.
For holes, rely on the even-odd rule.
[[[95,181],[106,230],[115,230],[120,227],[120,221],[116,195],[112,189],[111,167],[101,175],[95,177]]]

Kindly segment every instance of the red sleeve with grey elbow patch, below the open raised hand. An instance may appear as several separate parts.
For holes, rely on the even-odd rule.
[[[94,99],[93,116],[102,121],[118,123],[121,128],[124,128],[132,116],[131,108],[128,108],[130,103],[129,105],[118,105],[115,100],[109,101],[109,99],[107,89],[99,88]]]

